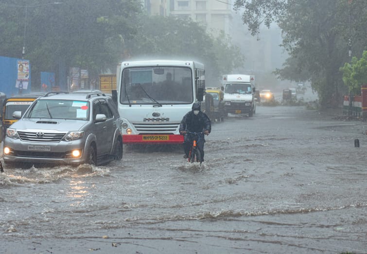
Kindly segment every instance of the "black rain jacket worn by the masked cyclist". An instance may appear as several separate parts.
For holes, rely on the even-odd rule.
[[[189,132],[204,132],[211,131],[211,122],[208,116],[199,111],[199,114],[195,115],[193,111],[189,111],[181,120],[179,131]]]

